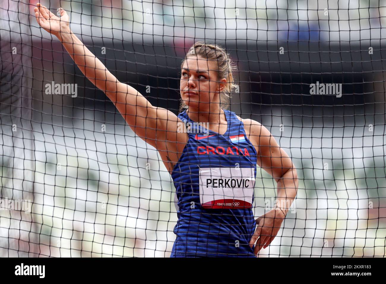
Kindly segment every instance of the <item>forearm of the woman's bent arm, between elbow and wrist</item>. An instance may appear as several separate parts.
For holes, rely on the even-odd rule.
[[[277,193],[277,207],[281,208],[285,214],[287,214],[289,207],[291,206],[293,200],[296,197],[296,193],[298,192],[298,175],[296,173],[295,168],[289,169],[286,173],[284,173],[283,177],[281,177],[278,182],[278,193]],[[281,212],[280,209],[278,209]],[[285,216],[283,214],[283,216]]]

